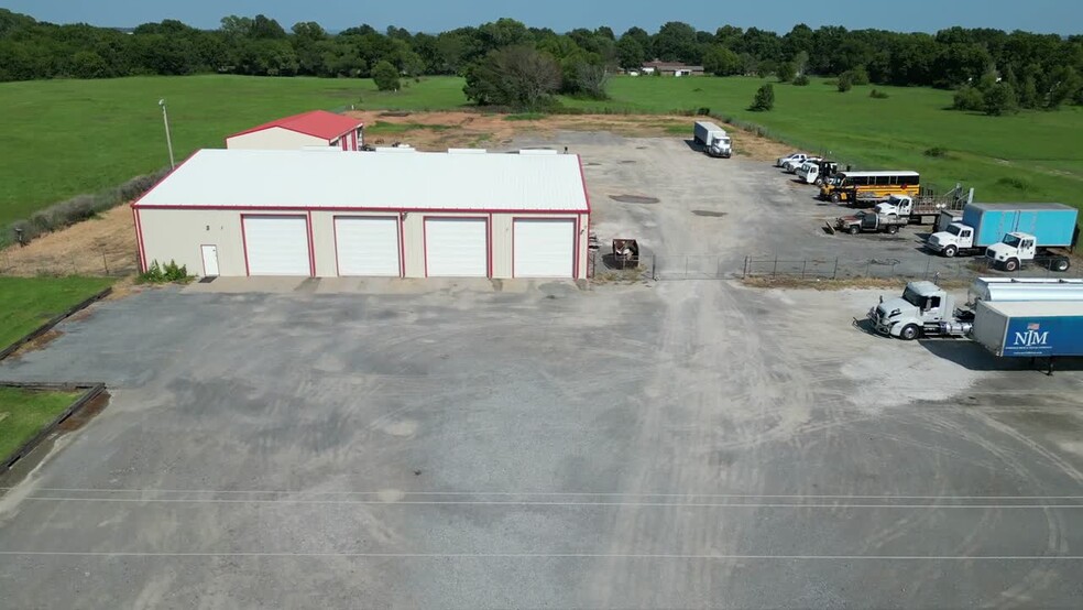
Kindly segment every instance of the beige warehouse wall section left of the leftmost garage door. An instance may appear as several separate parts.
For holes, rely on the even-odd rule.
[[[218,247],[221,275],[245,275],[241,214],[237,210],[139,209],[144,263],[176,261],[203,275],[201,246]]]

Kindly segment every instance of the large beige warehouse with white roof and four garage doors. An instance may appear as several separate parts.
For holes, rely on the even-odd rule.
[[[132,210],[144,270],[587,276],[578,155],[208,149]]]

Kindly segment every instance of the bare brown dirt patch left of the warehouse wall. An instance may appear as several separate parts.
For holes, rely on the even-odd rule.
[[[120,275],[136,271],[135,228],[127,205],[99,218],[0,250],[6,275]]]

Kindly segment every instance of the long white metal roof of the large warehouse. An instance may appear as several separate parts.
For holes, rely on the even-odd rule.
[[[589,211],[579,156],[206,149],[135,207]]]

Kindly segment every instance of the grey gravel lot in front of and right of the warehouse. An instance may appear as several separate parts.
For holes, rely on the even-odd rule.
[[[734,270],[910,248],[825,236],[761,163],[549,143],[603,242]],[[871,291],[214,286],[0,364],[112,393],[0,479],[0,607],[1083,604],[1079,363],[869,336]]]

